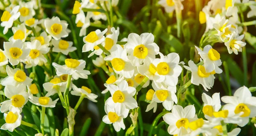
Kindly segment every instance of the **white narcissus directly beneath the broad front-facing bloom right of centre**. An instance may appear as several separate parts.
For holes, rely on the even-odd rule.
[[[157,103],[162,103],[163,107],[170,111],[172,110],[174,102],[177,104],[178,99],[175,95],[175,91],[170,90],[168,88],[164,88],[163,86],[157,87],[157,85],[153,82],[152,83],[153,89],[156,91],[153,96],[153,101]]]

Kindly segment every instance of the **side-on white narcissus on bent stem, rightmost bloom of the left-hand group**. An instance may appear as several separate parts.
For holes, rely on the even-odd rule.
[[[73,91],[70,92],[72,95],[75,95],[75,96],[83,95],[84,98],[87,98],[92,102],[97,102],[96,98],[98,96],[96,94],[93,94],[89,88],[85,86],[82,86],[81,88],[77,88],[76,85],[74,84],[72,85],[72,88],[73,88]]]

